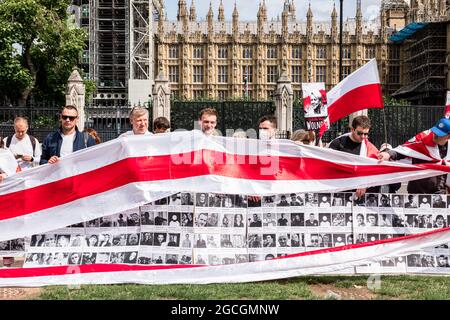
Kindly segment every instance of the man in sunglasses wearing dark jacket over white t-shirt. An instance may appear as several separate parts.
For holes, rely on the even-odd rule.
[[[49,133],[42,143],[40,164],[56,163],[61,157],[95,145],[94,138],[78,130],[78,110],[76,107],[71,105],[63,107],[60,121],[59,129]]]

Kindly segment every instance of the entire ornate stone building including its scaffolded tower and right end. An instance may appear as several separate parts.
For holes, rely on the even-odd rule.
[[[369,20],[363,17],[361,0],[348,1],[355,1],[356,13],[343,24],[342,76],[376,58],[384,94],[395,96],[414,91],[412,87],[404,88],[422,81],[423,75],[414,70],[422,68],[423,73],[432,65],[418,57],[422,62],[420,59],[416,62],[422,67],[415,66],[414,50],[431,56],[435,53],[393,42],[390,37],[414,22],[443,23],[442,28],[446,30],[450,0],[410,0],[409,3],[382,0],[376,17]],[[329,6],[327,21],[318,21],[311,6],[306,12],[299,12],[294,0],[285,0],[284,4],[280,0],[283,4],[280,12],[271,13],[278,17],[269,19],[266,0],[260,0],[256,20],[250,22],[240,19],[240,0],[235,1],[231,21],[225,20],[222,1],[217,12],[209,5],[206,17],[199,17],[196,5],[200,0],[178,0],[177,18],[173,21],[167,19],[163,0],[78,2],[81,26],[84,23],[89,28],[90,38],[90,47],[82,59],[83,68],[90,79],[96,81],[101,94],[118,93],[126,98],[130,92],[128,87],[134,83],[130,79],[135,73],[139,78],[139,72],[145,74],[149,83],[158,75],[164,75],[169,79],[172,96],[183,100],[244,96],[267,100],[282,74],[291,80],[296,97],[301,97],[301,83],[325,82],[330,89],[339,82],[340,23],[332,0],[322,1]],[[202,5],[205,2],[201,0]],[[127,13],[130,3],[144,3],[147,9],[141,11],[154,16],[150,24],[151,40],[137,40],[133,32],[128,31],[127,26],[137,23]],[[152,5],[157,7],[153,15],[152,9],[148,9]],[[138,10],[136,16],[142,15],[144,13]],[[145,31],[142,30],[136,29],[135,35]],[[445,43],[439,49],[439,59],[444,62],[449,60],[446,58],[447,47],[450,47],[447,34],[445,32]],[[130,52],[135,49],[129,44],[138,42],[147,44],[143,51],[147,59],[131,57]],[[128,64],[133,59],[140,61],[137,71]],[[445,87],[447,89],[448,85]]]

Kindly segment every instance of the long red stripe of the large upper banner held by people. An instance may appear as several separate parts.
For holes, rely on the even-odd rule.
[[[174,161],[181,162],[182,159],[188,163],[174,164]],[[450,168],[444,168],[450,171]],[[434,169],[440,170],[440,167]],[[205,175],[261,181],[336,180],[418,170],[421,169],[382,164],[349,165],[301,157],[243,156],[211,150],[180,155],[136,157],[45,185],[2,195],[0,203],[7,203],[9,206],[0,208],[0,220],[49,209],[134,182]]]

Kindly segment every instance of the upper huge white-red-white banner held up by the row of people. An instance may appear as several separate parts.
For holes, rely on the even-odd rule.
[[[338,192],[441,175],[450,167],[378,162],[289,140],[130,136],[0,185],[0,241],[119,213],[177,192]]]

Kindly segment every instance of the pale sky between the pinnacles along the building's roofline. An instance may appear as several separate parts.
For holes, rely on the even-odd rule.
[[[188,8],[192,0],[186,0]],[[209,9],[210,0],[194,0],[197,8],[198,19],[205,19]],[[225,19],[231,20],[231,14],[234,8],[235,0],[222,0],[225,7]],[[330,19],[333,4],[336,2],[336,8],[339,13],[339,0],[294,0],[297,8],[297,19],[306,20],[306,11],[311,2],[315,20],[327,21]],[[236,0],[241,20],[256,20],[259,0]],[[214,17],[217,18],[217,8],[220,0],[212,0]],[[166,13],[169,20],[176,19],[178,0],[165,0]],[[266,0],[268,18],[281,16],[284,0]],[[374,19],[379,15],[381,0],[362,0],[363,15],[366,19]],[[355,16],[356,0],[344,0],[344,17]]]

